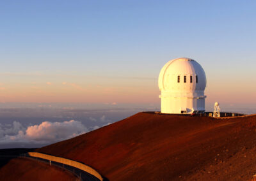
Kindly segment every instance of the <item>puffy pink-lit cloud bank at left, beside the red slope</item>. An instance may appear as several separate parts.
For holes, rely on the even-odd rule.
[[[13,122],[12,127],[4,126],[0,124],[0,143],[54,143],[88,132],[88,129],[81,122],[76,120],[65,122],[45,121],[27,128],[22,127],[20,122]]]

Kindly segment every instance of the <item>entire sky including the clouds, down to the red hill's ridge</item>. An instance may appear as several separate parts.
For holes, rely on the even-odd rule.
[[[0,148],[42,146],[159,110],[159,72],[178,57],[204,68],[207,111],[218,101],[222,111],[256,113],[255,7],[0,1]]]

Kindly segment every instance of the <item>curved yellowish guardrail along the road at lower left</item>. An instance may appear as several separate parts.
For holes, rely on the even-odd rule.
[[[31,157],[38,157],[38,158],[47,159],[47,160],[50,160],[50,161],[55,161],[55,162],[58,162],[58,163],[67,164],[69,166],[73,166],[75,168],[78,168],[80,170],[83,170],[83,171],[86,171],[86,172],[90,173],[94,177],[99,178],[100,181],[103,180],[101,175],[96,170],[94,170],[90,166],[87,166],[86,164],[79,163],[77,161],[72,161],[70,159],[65,159],[65,158],[62,158],[62,157],[49,156],[47,154],[41,154],[41,153],[38,153],[38,152],[28,152],[28,154]]]

